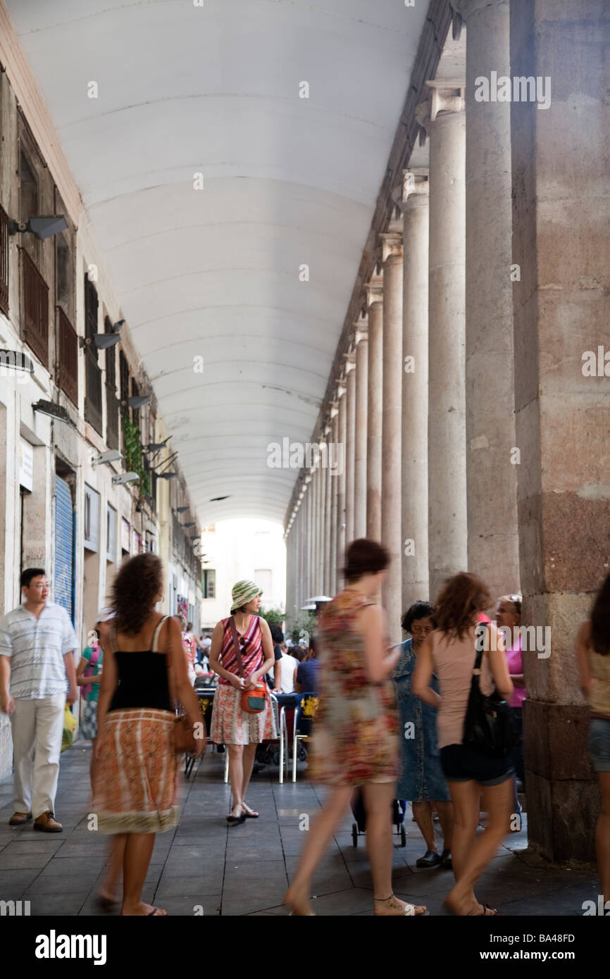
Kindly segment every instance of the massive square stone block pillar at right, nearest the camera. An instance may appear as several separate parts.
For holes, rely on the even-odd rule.
[[[511,105],[522,622],[552,637],[524,654],[528,830],[549,860],[592,861],[574,643],[610,570],[608,11],[522,0],[510,20],[512,75],[543,84]]]

